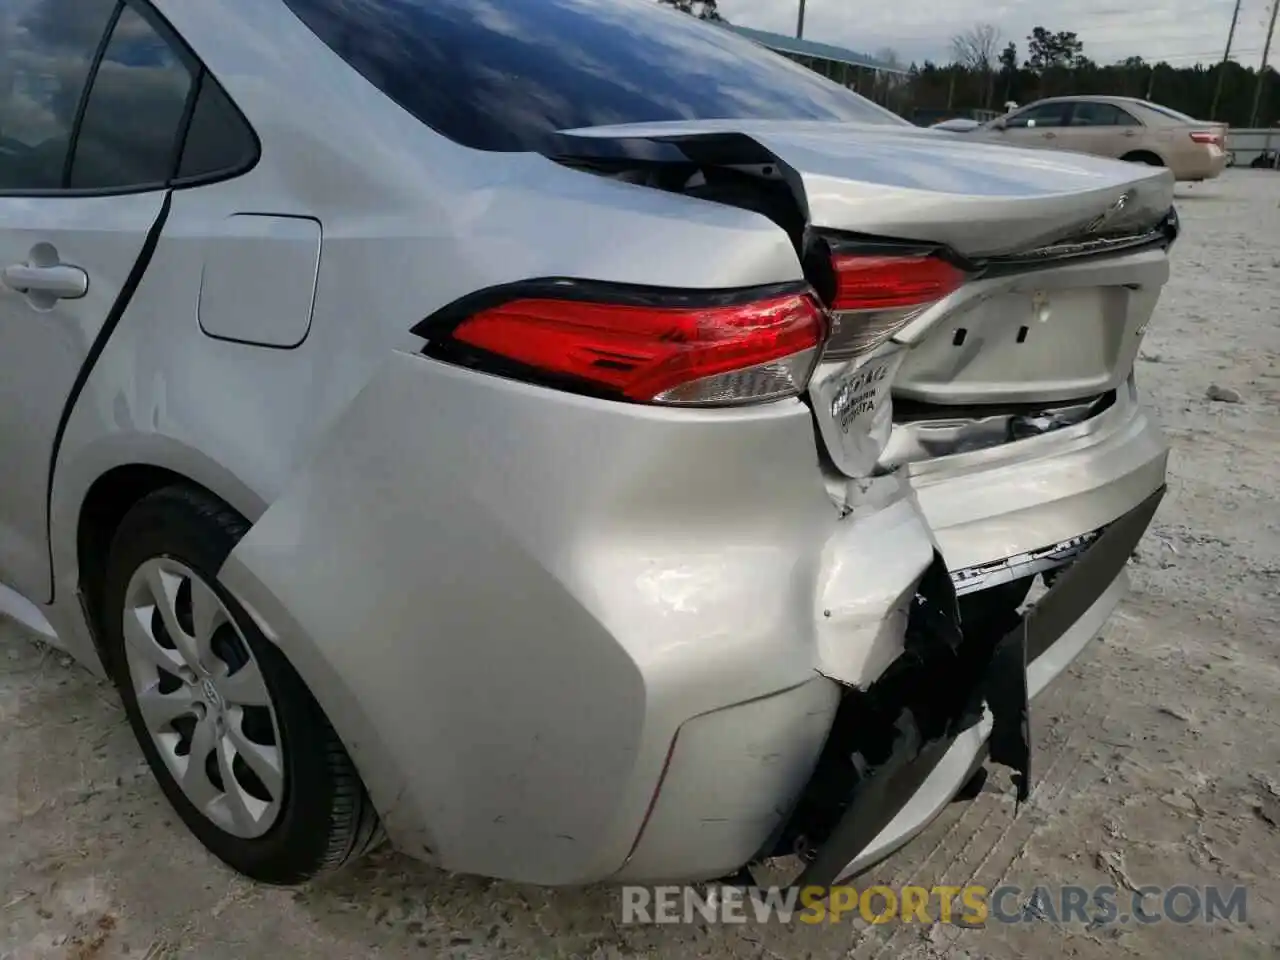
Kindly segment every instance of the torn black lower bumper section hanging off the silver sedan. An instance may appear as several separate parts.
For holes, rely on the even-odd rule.
[[[1108,525],[1002,637],[964,635],[950,577],[934,563],[906,653],[872,687],[845,694],[814,776],[769,851],[800,856],[799,886],[826,887],[865,869],[864,851],[952,744],[979,726],[989,727],[989,759],[1012,768],[1019,800],[1028,797],[1028,667],[1112,589],[1164,494]]]

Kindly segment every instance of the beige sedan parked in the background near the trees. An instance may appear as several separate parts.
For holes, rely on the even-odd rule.
[[[1226,168],[1226,124],[1129,97],[1038,100],[964,136],[1167,166],[1179,180],[1208,180]]]

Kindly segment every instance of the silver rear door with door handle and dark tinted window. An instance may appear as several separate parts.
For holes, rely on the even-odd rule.
[[[0,12],[0,581],[32,600],[59,434],[165,206],[184,58],[133,0]]]

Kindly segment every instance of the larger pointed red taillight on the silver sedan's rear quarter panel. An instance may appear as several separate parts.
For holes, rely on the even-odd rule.
[[[800,393],[826,333],[817,301],[788,293],[705,307],[515,300],[452,339],[627,399],[712,404]]]

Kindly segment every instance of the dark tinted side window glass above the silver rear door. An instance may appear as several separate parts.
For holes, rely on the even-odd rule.
[[[206,183],[257,155],[146,0],[0,0],[0,195]]]

